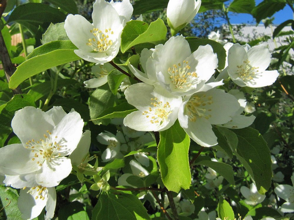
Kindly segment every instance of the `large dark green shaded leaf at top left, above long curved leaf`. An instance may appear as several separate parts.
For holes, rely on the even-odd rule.
[[[17,22],[36,34],[39,26],[48,27],[50,23],[64,22],[66,15],[47,4],[26,3],[17,6],[10,14],[7,23]]]

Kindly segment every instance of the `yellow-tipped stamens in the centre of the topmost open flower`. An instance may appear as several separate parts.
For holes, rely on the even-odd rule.
[[[93,28],[93,30],[91,29],[90,32],[94,35],[94,37],[90,38],[86,45],[90,46],[94,51],[97,52],[106,51],[113,44],[112,40],[108,39],[108,34],[113,34],[113,31],[110,31],[111,28],[108,30],[105,29],[104,32],[98,30],[98,28]]]

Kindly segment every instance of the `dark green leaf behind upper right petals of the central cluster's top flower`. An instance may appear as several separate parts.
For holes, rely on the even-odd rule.
[[[218,69],[222,70],[225,67],[225,57],[227,56],[225,53],[225,49],[223,48],[223,45],[220,43],[209,40],[209,39],[200,39],[200,38],[194,38],[194,37],[187,37],[186,40],[188,41],[191,52],[193,53],[195,50],[198,49],[200,45],[211,45],[213,52],[217,54],[218,56]]]

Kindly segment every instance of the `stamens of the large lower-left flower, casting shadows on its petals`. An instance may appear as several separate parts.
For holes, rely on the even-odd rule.
[[[42,166],[40,158],[51,162],[51,159],[60,156],[59,150],[62,146],[56,141],[53,143],[53,138],[50,136],[51,132],[47,131],[47,133],[47,135],[44,134],[44,137],[46,138],[45,140],[40,139],[40,141],[35,141],[32,139],[26,142],[27,146],[25,148],[31,149],[32,152],[36,152],[32,160],[39,159],[37,160],[37,164],[39,164],[39,166]],[[57,136],[55,136],[55,138],[57,138]]]

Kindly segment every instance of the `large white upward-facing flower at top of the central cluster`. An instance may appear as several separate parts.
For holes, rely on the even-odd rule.
[[[223,84],[221,81],[205,84],[218,66],[212,47],[199,46],[191,53],[183,36],[171,37],[164,45],[157,45],[155,50],[144,49],[140,61],[145,73],[128,65],[138,79],[151,85],[159,83],[175,95],[191,95]]]

